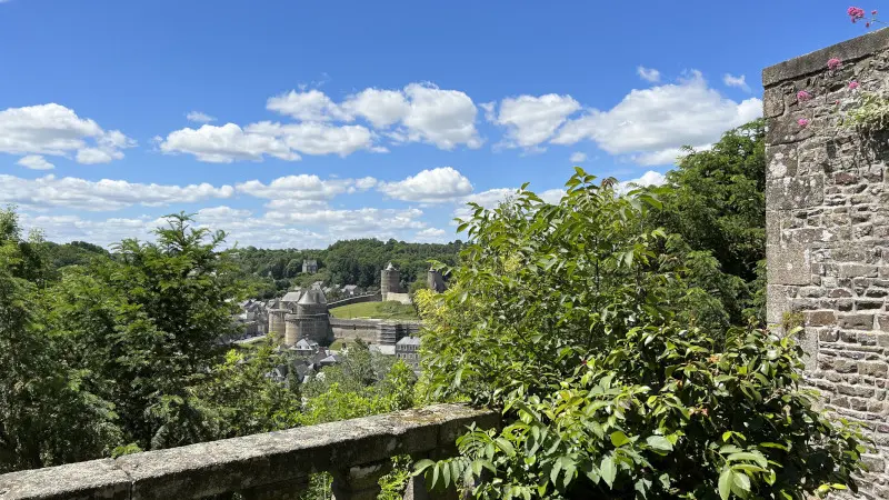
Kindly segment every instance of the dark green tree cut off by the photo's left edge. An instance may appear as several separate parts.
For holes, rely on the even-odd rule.
[[[113,407],[83,390],[83,371],[39,323],[46,266],[39,238],[21,238],[18,217],[0,211],[0,472],[99,456],[120,443]]]

